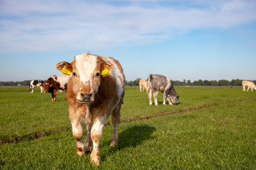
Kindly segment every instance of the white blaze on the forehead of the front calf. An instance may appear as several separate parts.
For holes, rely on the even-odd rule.
[[[80,74],[80,81],[86,83],[90,81],[92,87],[92,73],[97,66],[97,57],[95,55],[77,55],[75,57],[75,67]]]

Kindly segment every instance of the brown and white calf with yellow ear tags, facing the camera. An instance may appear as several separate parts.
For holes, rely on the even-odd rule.
[[[90,53],[77,55],[73,62],[56,64],[60,72],[68,70],[72,76],[68,81],[67,97],[73,136],[77,140],[77,154],[90,155],[91,164],[100,165],[99,142],[102,129],[111,115],[114,127],[111,146],[117,145],[117,125],[124,98],[124,73],[121,65],[112,57],[101,57]],[[85,120],[87,137],[82,143],[82,121]]]

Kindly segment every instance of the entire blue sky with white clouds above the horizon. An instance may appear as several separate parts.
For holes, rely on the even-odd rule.
[[[46,80],[85,52],[127,81],[256,79],[255,0],[1,0],[0,37],[0,81]]]

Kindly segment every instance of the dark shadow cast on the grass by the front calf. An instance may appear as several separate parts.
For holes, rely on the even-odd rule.
[[[124,149],[127,147],[137,147],[141,145],[145,140],[152,139],[152,133],[156,130],[153,126],[149,125],[134,125],[127,130],[120,132],[118,135],[119,142],[115,147],[110,147],[110,150],[107,151],[110,154],[116,152],[117,150]],[[103,144],[105,145],[105,144]],[[110,141],[107,142],[107,145],[110,145]],[[106,155],[102,155],[102,161],[105,160]]]

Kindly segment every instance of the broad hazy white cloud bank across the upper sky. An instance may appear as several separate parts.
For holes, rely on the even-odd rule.
[[[230,28],[255,21],[254,1],[193,1],[193,5],[127,6],[84,1],[1,1],[0,51],[108,49],[169,40],[197,28]],[[178,3],[178,1],[171,1]],[[188,1],[183,1],[186,3]],[[196,7],[204,6],[204,7]]]

